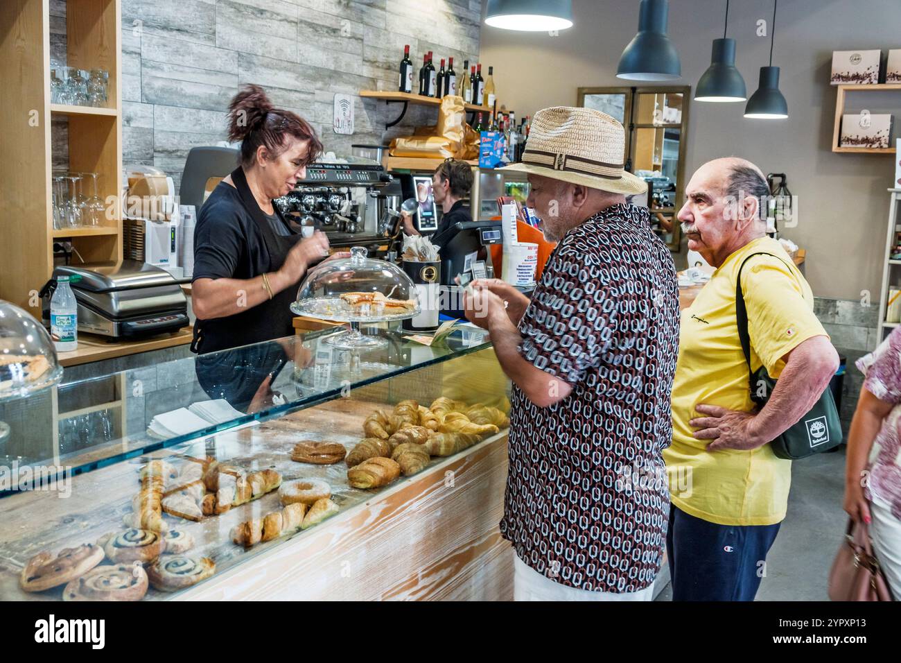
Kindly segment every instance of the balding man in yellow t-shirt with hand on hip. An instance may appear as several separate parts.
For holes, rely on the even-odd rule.
[[[715,268],[682,311],[672,392],[667,554],[674,601],[751,601],[785,519],[791,461],[769,441],[826,389],[839,357],[814,315],[814,298],[782,246],[766,235],[767,181],[750,161],[705,163],[678,219],[688,249]],[[747,260],[747,263],[745,261]],[[751,368],[778,383],[755,411],[735,318],[742,293]]]

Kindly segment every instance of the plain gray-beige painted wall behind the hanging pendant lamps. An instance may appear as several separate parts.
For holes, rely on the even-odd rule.
[[[669,34],[682,61],[674,85],[696,86],[710,63],[711,41],[723,36],[724,0],[671,0]],[[730,5],[729,36],[749,94],[769,58],[769,36],[758,19],[772,19],[772,0]],[[615,69],[638,25],[637,0],[573,0],[576,25],[559,36],[505,32],[484,26],[481,60],[495,67],[497,94],[516,115],[544,106],[575,105],[577,87],[619,86]],[[769,32],[768,32],[769,35]],[[800,199],[796,228],[784,235],[807,249],[806,274],[816,295],[879,299],[893,160],[887,155],[832,152],[835,90],[832,51],[901,48],[897,0],[791,0],[778,5],[773,64],[782,68],[787,121],[745,120],[743,104],[692,103],[687,170],[737,154],[764,172],[786,172]],[[848,110],[901,117],[901,93],[856,93]],[[884,95],[884,96],[883,96]],[[897,123],[896,123],[897,125]],[[898,130],[895,131],[899,134]],[[683,248],[684,251],[684,248]]]

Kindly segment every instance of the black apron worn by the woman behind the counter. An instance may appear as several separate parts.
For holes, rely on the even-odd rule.
[[[263,243],[269,254],[268,272],[278,271],[285,263],[287,253],[303,239],[303,235],[276,235],[273,232],[263,210],[259,208],[256,199],[253,198],[250,187],[247,185],[247,178],[244,176],[244,170],[240,166],[232,171],[232,182],[235,189],[238,189],[244,208],[259,226],[259,231],[263,235]],[[278,207],[273,206],[273,208],[278,218],[284,222],[285,218]],[[194,341],[191,343],[191,351],[205,354],[226,348],[270,341],[273,338],[292,336],[295,314],[290,307],[296,299],[299,285],[300,281],[297,281],[272,299],[266,299],[263,303],[228,318],[197,320],[194,326]]]

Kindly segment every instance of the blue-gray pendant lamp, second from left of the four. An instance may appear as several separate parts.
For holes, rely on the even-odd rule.
[[[678,53],[667,36],[668,0],[641,0],[638,34],[620,56],[616,78],[673,80],[681,78]]]

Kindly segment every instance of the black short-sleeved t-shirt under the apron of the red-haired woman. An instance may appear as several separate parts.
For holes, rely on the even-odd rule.
[[[296,235],[280,219],[278,223],[287,231],[280,235]],[[269,253],[257,222],[241,204],[238,189],[220,182],[197,215],[192,281],[252,279],[271,271]]]

